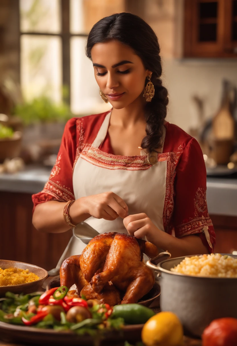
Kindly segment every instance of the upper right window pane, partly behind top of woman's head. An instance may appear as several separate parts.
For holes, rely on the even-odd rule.
[[[70,0],[70,31],[88,34],[100,19],[125,11],[125,0]]]

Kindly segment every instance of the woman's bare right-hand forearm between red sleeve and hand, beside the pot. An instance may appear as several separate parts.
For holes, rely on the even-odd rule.
[[[209,253],[208,249],[202,243],[201,238],[196,235],[188,235],[182,238],[176,238],[163,231],[160,231],[159,238],[156,239],[155,243],[157,247],[168,250],[172,257]]]

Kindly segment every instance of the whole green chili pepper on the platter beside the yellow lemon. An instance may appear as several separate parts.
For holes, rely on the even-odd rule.
[[[143,305],[121,304],[113,307],[111,318],[122,317],[126,324],[143,324],[154,315],[155,312]]]

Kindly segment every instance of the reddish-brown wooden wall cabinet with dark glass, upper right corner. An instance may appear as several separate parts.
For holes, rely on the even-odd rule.
[[[184,57],[237,57],[237,0],[185,0]]]

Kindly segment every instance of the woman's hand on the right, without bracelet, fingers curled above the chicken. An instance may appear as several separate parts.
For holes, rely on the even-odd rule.
[[[159,230],[145,213],[129,215],[123,219],[128,233],[138,239],[147,237],[148,242],[157,244]]]

